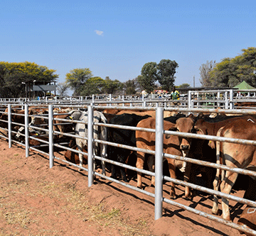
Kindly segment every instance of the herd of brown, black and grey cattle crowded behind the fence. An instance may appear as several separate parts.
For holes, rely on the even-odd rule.
[[[1,128],[8,127],[7,118],[8,108],[2,112],[0,118]],[[81,152],[87,152],[87,111],[86,109],[56,108],[53,111],[54,118],[66,119],[67,122],[53,119],[53,130],[58,131],[54,135],[54,140],[68,140],[69,147]],[[14,130],[13,139],[23,140],[24,135],[24,111],[21,108],[12,108],[11,111],[11,129]],[[36,135],[39,139],[47,140],[47,133],[43,131],[48,125],[48,108],[30,107],[28,109],[29,132],[31,137]],[[93,114],[94,123],[107,123],[112,125],[125,125],[137,128],[156,127],[155,111],[139,110],[117,110],[117,109],[97,109]],[[33,117],[36,115],[36,117]],[[78,120],[80,123],[71,122]],[[164,111],[164,130],[172,130],[182,133],[196,133],[203,135],[215,135],[219,137],[233,137],[245,140],[256,140],[256,116],[210,116],[209,114],[182,114]],[[122,128],[106,127],[104,125],[93,126],[93,138],[114,142],[119,145],[128,145],[145,150],[155,150],[155,133],[142,130],[128,130]],[[37,130],[36,127],[41,127]],[[42,128],[43,127],[43,128]],[[66,133],[75,133],[74,137],[65,136]],[[29,138],[29,145],[40,145],[38,140]],[[106,145],[104,143],[94,142],[93,153],[100,157],[111,159],[122,164],[129,164],[139,169],[149,169],[154,172],[154,156],[144,152],[135,152],[119,145]],[[230,142],[215,142],[213,140],[203,140],[191,137],[179,137],[176,135],[164,135],[164,153],[174,154],[182,157],[203,160],[206,162],[225,164],[228,167],[238,167],[242,169],[255,170],[256,167],[256,147],[254,145],[242,145]],[[65,159],[75,164],[86,163],[86,155],[80,152],[65,151]],[[201,166],[182,162],[178,159],[165,158],[164,166],[168,167],[169,175],[176,178],[177,174],[183,174],[186,182],[196,183],[196,176],[200,175],[204,180],[206,187],[218,190],[223,193],[230,193],[238,179],[235,172],[215,169],[213,167]],[[112,178],[119,178],[128,182],[134,177],[134,172],[124,169],[117,165],[106,164],[109,168]],[[102,162],[102,174],[105,174],[105,162]],[[247,176],[243,176],[247,178]],[[242,178],[242,176],[241,176]],[[246,183],[246,184],[245,184]],[[151,184],[154,186],[154,177],[151,178]],[[247,178],[243,181],[245,187],[245,196],[249,200],[255,201],[255,177]],[[137,172],[137,187],[143,188],[142,173]],[[193,190],[186,187],[185,197],[193,198]],[[174,183],[171,183],[170,197],[176,198]],[[230,220],[230,211],[228,199],[222,198],[223,218]],[[218,198],[214,196],[212,212],[218,214]]]

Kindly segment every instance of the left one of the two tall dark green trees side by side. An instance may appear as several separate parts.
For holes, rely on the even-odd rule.
[[[151,93],[156,88],[157,64],[156,62],[148,62],[142,67],[141,75],[138,77],[138,82],[147,93]]]

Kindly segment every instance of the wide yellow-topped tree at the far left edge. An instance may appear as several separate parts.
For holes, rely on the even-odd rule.
[[[55,82],[58,74],[54,69],[40,66],[34,62],[0,62],[0,96],[31,96],[33,84]]]

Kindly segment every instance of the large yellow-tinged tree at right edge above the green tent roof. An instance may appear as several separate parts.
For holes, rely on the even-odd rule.
[[[210,74],[211,86],[233,87],[242,81],[256,86],[256,47],[242,49],[234,58],[224,58],[215,64]]]

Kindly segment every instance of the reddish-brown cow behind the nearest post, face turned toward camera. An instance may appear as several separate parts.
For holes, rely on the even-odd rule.
[[[172,130],[184,133],[194,133],[194,118],[193,116],[188,116],[187,118],[178,118],[176,124],[164,120],[164,130]],[[147,118],[138,123],[137,128],[152,128],[156,127],[155,118]],[[155,133],[149,133],[142,130],[136,130],[136,145],[138,148],[146,150],[155,150]],[[178,156],[187,157],[188,152],[191,147],[191,138],[187,137],[178,137],[175,135],[164,135],[164,152],[168,154],[175,154]],[[145,153],[137,152],[137,164],[136,167],[143,169],[145,161]],[[151,161],[152,162],[152,161]],[[175,169],[178,167],[181,169],[181,172],[185,172],[184,179],[188,181],[189,173],[187,172],[189,168],[186,168],[186,162],[182,162],[176,159],[167,158],[169,164],[169,172],[171,178],[176,178]],[[151,167],[151,170],[154,171],[154,168]],[[151,179],[151,184],[154,185],[154,178]],[[138,172],[137,174],[137,187],[142,188],[142,173]],[[174,183],[171,183],[170,197],[176,198]],[[190,191],[188,187],[185,190],[185,197],[191,198]]]

